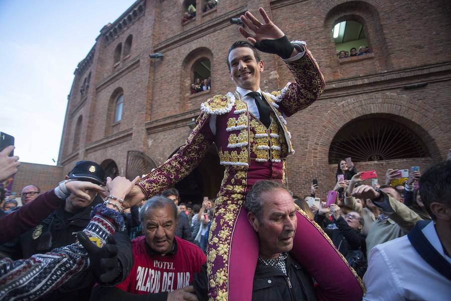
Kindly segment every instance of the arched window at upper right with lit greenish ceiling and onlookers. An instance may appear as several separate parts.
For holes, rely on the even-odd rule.
[[[336,22],[332,28],[335,49],[339,59],[369,53],[363,25],[357,21]]]

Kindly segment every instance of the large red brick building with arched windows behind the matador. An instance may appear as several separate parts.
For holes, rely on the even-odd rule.
[[[446,1],[140,0],[101,29],[75,70],[60,148],[66,174],[79,160],[109,174],[134,177],[170,157],[188,136],[200,103],[235,89],[225,58],[242,39],[237,18],[265,8],[290,39],[305,40],[326,79],[309,108],[289,118],[296,154],[288,184],[299,195],[313,178],[334,185],[337,162],[352,157],[358,170],[422,170],[450,147],[451,6]],[[192,4],[196,16],[182,22]],[[333,30],[334,29],[334,30]],[[337,52],[367,46],[365,55]],[[149,58],[161,53],[163,57]],[[263,54],[262,90],[293,80],[282,60]],[[195,77],[211,89],[191,94]],[[214,147],[177,188],[182,198],[213,197],[221,179]]]

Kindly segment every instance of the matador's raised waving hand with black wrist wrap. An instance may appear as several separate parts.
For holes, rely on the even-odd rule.
[[[283,59],[292,57],[298,51],[291,45],[285,34],[278,28],[268,17],[263,8],[259,8],[265,24],[262,24],[250,12],[246,12],[240,17],[240,20],[254,32],[247,32],[244,27],[240,26],[239,31],[249,42],[251,42],[258,50],[275,53]]]

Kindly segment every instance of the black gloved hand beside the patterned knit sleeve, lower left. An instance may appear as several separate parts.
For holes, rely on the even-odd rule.
[[[103,248],[97,247],[91,242],[85,232],[77,233],[78,241],[88,252],[90,266],[101,283],[111,283],[120,274],[120,266],[117,260],[117,247],[114,237],[108,235],[106,244]]]

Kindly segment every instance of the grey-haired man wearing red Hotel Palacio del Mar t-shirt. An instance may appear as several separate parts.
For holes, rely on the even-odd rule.
[[[175,236],[174,202],[153,197],[141,208],[139,218],[144,236],[132,241],[135,262],[130,274],[115,287],[95,287],[91,299],[197,300],[190,283],[206,256],[196,245]]]

